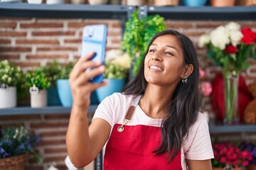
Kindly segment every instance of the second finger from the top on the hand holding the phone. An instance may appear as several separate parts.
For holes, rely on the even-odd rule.
[[[73,79],[77,79],[80,76],[80,74],[85,72],[86,69],[91,67],[99,67],[101,64],[102,62],[100,61],[81,62],[73,68],[72,72],[70,73],[70,80],[73,81]]]

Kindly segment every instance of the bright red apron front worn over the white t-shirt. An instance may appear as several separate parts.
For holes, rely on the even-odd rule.
[[[172,169],[182,170],[181,151],[172,162],[167,154],[156,156],[152,151],[161,143],[161,129],[146,125],[124,125],[118,132],[119,124],[114,125],[110,140],[107,142],[104,169]]]

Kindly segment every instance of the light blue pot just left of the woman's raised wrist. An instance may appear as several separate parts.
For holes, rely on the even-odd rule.
[[[62,106],[71,107],[73,99],[68,79],[57,79],[57,91]]]

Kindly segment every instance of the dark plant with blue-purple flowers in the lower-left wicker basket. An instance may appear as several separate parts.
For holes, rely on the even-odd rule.
[[[18,128],[8,127],[1,130],[0,139],[0,159],[18,156],[26,152],[33,154],[36,161],[39,161],[39,156],[34,148],[40,141],[40,137],[33,132],[29,132],[23,126]]]

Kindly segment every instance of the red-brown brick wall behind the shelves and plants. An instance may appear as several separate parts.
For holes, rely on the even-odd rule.
[[[168,28],[174,28],[188,35],[196,45],[198,36],[229,21],[166,21]],[[237,21],[242,27],[249,26],[256,30],[255,21]],[[118,20],[85,19],[48,19],[48,18],[0,18],[0,60],[10,60],[23,69],[30,69],[39,64],[47,64],[53,59],[59,62],[77,60],[80,57],[82,27],[87,24],[104,23],[108,27],[107,50],[118,49],[122,39],[121,23]],[[205,50],[197,49],[201,65],[207,65],[209,80],[219,71],[206,59]],[[251,67],[243,72],[249,84],[256,79],[256,62],[249,60]],[[209,99],[206,98],[206,103]],[[207,110],[211,111],[210,105]],[[67,114],[42,114],[0,116],[0,124],[26,125],[41,135],[38,152],[43,154],[43,165],[32,161],[30,169],[46,169],[55,164],[59,169],[66,169],[64,159],[65,132],[68,126]],[[235,134],[234,134],[235,135]],[[251,134],[250,136],[252,136]],[[255,140],[255,138],[252,138]]]

